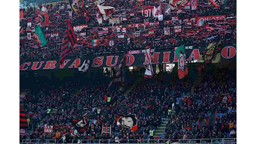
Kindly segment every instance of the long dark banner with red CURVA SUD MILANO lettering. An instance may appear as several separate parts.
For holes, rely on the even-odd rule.
[[[185,53],[187,61],[198,60],[203,54],[205,47],[195,48],[193,46],[185,46]],[[237,49],[235,45],[227,45],[221,48],[221,60],[233,60],[236,58]],[[90,68],[102,68],[116,66],[119,61],[119,55],[116,54],[102,54],[94,55],[90,60]],[[66,59],[65,63],[59,64],[58,60],[48,61],[31,61],[22,63],[19,70],[49,70],[49,69],[77,69],[87,60],[86,56],[83,58]],[[173,49],[156,51],[151,49],[152,64],[168,64],[176,63],[177,57]],[[125,65],[126,66],[142,66],[147,65],[146,50],[131,50],[126,52]]]

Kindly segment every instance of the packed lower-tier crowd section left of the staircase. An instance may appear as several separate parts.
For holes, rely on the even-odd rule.
[[[107,83],[85,83],[81,80],[68,81],[59,86],[48,83],[42,86],[29,86],[26,95],[21,94],[21,106],[28,116],[29,128],[32,134],[22,136],[29,140],[40,138],[66,141],[72,140],[137,140],[147,139],[150,128],[157,128],[166,116],[163,111],[168,107],[170,97],[165,91],[180,89],[178,93],[190,88],[190,80],[176,81],[168,88],[170,75],[159,74],[153,79],[144,79],[128,96],[124,96],[124,89],[112,88],[107,90]],[[176,83],[176,85],[174,85]],[[129,86],[128,83],[125,86]],[[185,92],[185,91],[184,91]],[[163,96],[162,96],[163,95]],[[107,102],[105,97],[111,97]],[[48,110],[51,111],[48,113]],[[99,112],[98,112],[99,110]],[[47,114],[48,113],[48,114]],[[85,133],[80,133],[70,123],[72,119],[79,119],[87,114],[91,122]],[[137,114],[138,131],[116,125],[116,115]],[[44,125],[53,125],[53,133],[45,133]],[[112,126],[112,133],[102,134],[102,125]],[[57,134],[56,134],[57,133]],[[60,135],[58,135],[60,133]]]

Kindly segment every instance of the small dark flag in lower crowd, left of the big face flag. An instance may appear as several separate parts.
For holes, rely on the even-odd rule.
[[[87,130],[90,121],[87,115],[84,115],[81,119],[71,120],[70,122],[75,126],[79,133],[84,133]]]

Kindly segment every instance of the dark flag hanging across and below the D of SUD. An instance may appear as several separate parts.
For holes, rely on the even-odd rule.
[[[112,83],[122,84],[124,82],[124,66],[125,66],[125,52],[124,52],[124,55],[122,56],[122,59],[119,61],[119,64],[116,66],[116,75],[114,79],[110,82],[108,88],[110,88]]]

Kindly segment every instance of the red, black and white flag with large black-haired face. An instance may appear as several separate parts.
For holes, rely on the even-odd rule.
[[[131,115],[117,115],[117,124],[130,128],[132,131],[137,131],[138,128],[138,116],[136,114]]]

